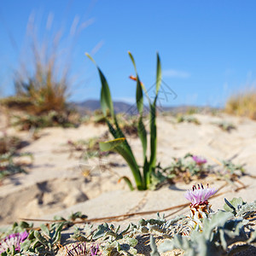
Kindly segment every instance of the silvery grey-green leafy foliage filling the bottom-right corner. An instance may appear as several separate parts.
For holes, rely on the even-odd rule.
[[[241,198],[234,198],[230,202],[225,200],[224,209],[211,213],[208,218],[202,219],[202,229],[192,230],[189,236],[178,234],[160,244],[156,248],[151,238],[151,255],[159,256],[160,253],[172,251],[174,248],[182,249],[184,255],[215,256],[234,255],[246,251],[250,246],[255,246],[256,231],[252,229],[246,217],[255,215],[255,201],[247,204]],[[239,214],[241,212],[241,214]],[[239,242],[237,246],[236,242]],[[160,252],[160,253],[159,253]]]

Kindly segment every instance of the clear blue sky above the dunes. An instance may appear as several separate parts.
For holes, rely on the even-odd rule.
[[[84,55],[89,52],[107,77],[113,99],[134,102],[136,84],[128,79],[134,74],[130,50],[147,88],[154,84],[159,52],[163,81],[177,95],[163,105],[222,106],[231,93],[255,85],[255,9],[255,1],[236,0],[2,1],[0,92],[14,93],[13,73],[29,51],[26,26],[33,14],[39,38],[49,16],[53,18],[50,31],[63,30],[62,47],[70,45],[76,21],[77,31],[84,26],[73,37],[72,101],[99,98],[96,68]]]

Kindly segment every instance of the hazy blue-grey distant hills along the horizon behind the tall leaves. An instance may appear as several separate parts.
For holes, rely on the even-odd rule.
[[[84,102],[73,102],[71,105],[76,108],[79,113],[91,113],[97,109],[101,109],[101,102],[99,100],[87,100]],[[127,114],[137,114],[136,104],[129,104],[126,102],[113,102],[113,108],[116,113],[127,113]],[[148,107],[145,106],[146,109]],[[195,108],[199,111],[204,109],[210,109],[209,107],[196,107],[196,106],[177,106],[177,107],[159,107],[160,111],[172,112],[172,113],[185,113],[189,109]],[[212,109],[212,108],[211,108]]]

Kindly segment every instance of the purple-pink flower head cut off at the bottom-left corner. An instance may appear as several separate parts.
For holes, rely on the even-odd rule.
[[[15,246],[16,252],[20,252],[20,244],[26,240],[27,236],[28,233],[26,231],[6,236],[0,241],[0,253],[6,252],[8,248],[11,249],[13,246]]]

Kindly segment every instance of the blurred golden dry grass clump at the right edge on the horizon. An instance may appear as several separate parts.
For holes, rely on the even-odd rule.
[[[226,102],[225,111],[256,119],[256,88],[250,88],[230,96]]]

